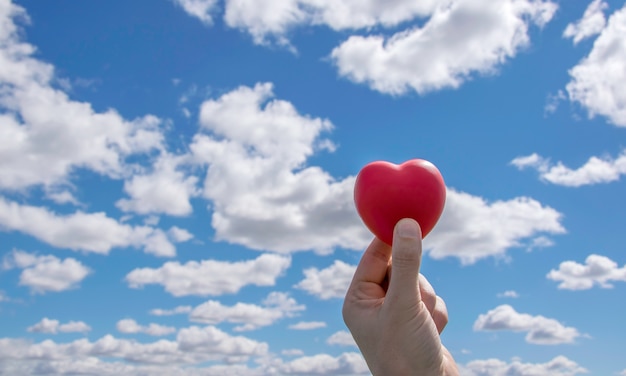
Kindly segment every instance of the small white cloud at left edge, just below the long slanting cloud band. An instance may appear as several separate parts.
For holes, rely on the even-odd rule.
[[[35,293],[61,292],[78,287],[91,270],[73,258],[61,260],[52,255],[37,256],[14,250],[3,260],[4,269],[22,269],[21,286]]]

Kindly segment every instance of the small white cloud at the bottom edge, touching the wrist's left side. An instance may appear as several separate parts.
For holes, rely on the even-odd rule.
[[[304,356],[279,367],[286,375],[368,375],[369,369],[359,353],[343,353],[337,357],[328,354]]]

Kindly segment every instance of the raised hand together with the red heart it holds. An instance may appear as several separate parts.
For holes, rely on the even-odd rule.
[[[419,273],[422,238],[439,219],[445,194],[441,174],[424,160],[374,162],[357,177],[357,210],[376,238],[355,270],[342,312],[374,376],[459,375],[441,343],[446,305]]]

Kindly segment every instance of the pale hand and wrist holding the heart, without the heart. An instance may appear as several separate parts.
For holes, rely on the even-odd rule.
[[[393,247],[375,238],[365,250],[346,293],[344,321],[374,376],[459,375],[440,338],[448,311],[421,257],[419,225],[402,219]]]

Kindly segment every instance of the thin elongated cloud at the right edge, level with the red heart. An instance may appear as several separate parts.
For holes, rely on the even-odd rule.
[[[551,163],[548,159],[533,153],[517,157],[511,164],[518,169],[533,168],[539,172],[541,180],[566,187],[610,183],[626,174],[626,151],[615,159],[610,157],[591,157],[581,167],[573,170],[562,162]]]

